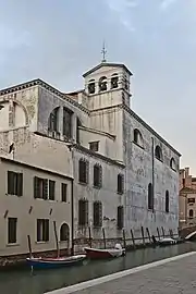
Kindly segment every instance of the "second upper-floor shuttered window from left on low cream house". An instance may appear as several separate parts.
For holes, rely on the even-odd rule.
[[[34,176],[34,198],[48,199],[48,180]]]

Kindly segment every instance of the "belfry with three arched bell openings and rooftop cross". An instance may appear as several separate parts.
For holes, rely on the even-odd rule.
[[[85,93],[88,96],[88,108],[96,110],[122,103],[131,107],[130,79],[132,73],[124,64],[108,63],[106,52],[103,44],[101,63],[83,75]]]

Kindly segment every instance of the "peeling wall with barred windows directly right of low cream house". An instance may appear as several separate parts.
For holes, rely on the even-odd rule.
[[[95,157],[86,156],[79,151],[73,150],[74,158],[74,236],[88,237],[88,228],[78,226],[78,200],[88,199],[88,220],[91,228],[91,236],[102,238],[101,229],[93,229],[93,203],[100,200],[102,203],[102,226],[106,229],[106,237],[122,237],[122,231],[117,230],[118,206],[123,205],[124,196],[117,193],[118,174],[124,174],[124,170],[118,166],[100,160]],[[89,180],[88,184],[78,183],[78,160],[84,158],[89,161]],[[102,167],[102,187],[94,187],[94,164],[99,163]],[[107,220],[105,220],[106,218]]]

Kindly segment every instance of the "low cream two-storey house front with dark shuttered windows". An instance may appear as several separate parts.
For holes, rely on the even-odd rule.
[[[9,173],[13,173],[13,185]],[[19,175],[22,180],[16,182]],[[60,249],[71,248],[72,179],[3,157],[0,158],[0,256],[28,253],[27,235],[33,253],[56,249],[53,221]],[[48,182],[46,199],[35,198],[35,177]],[[51,181],[54,183],[53,199]],[[66,201],[61,198],[62,184],[66,186]],[[44,222],[48,222],[47,228],[44,228]]]

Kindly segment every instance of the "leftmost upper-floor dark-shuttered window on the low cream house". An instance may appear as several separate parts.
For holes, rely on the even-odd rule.
[[[23,196],[23,173],[8,171],[8,194]]]

